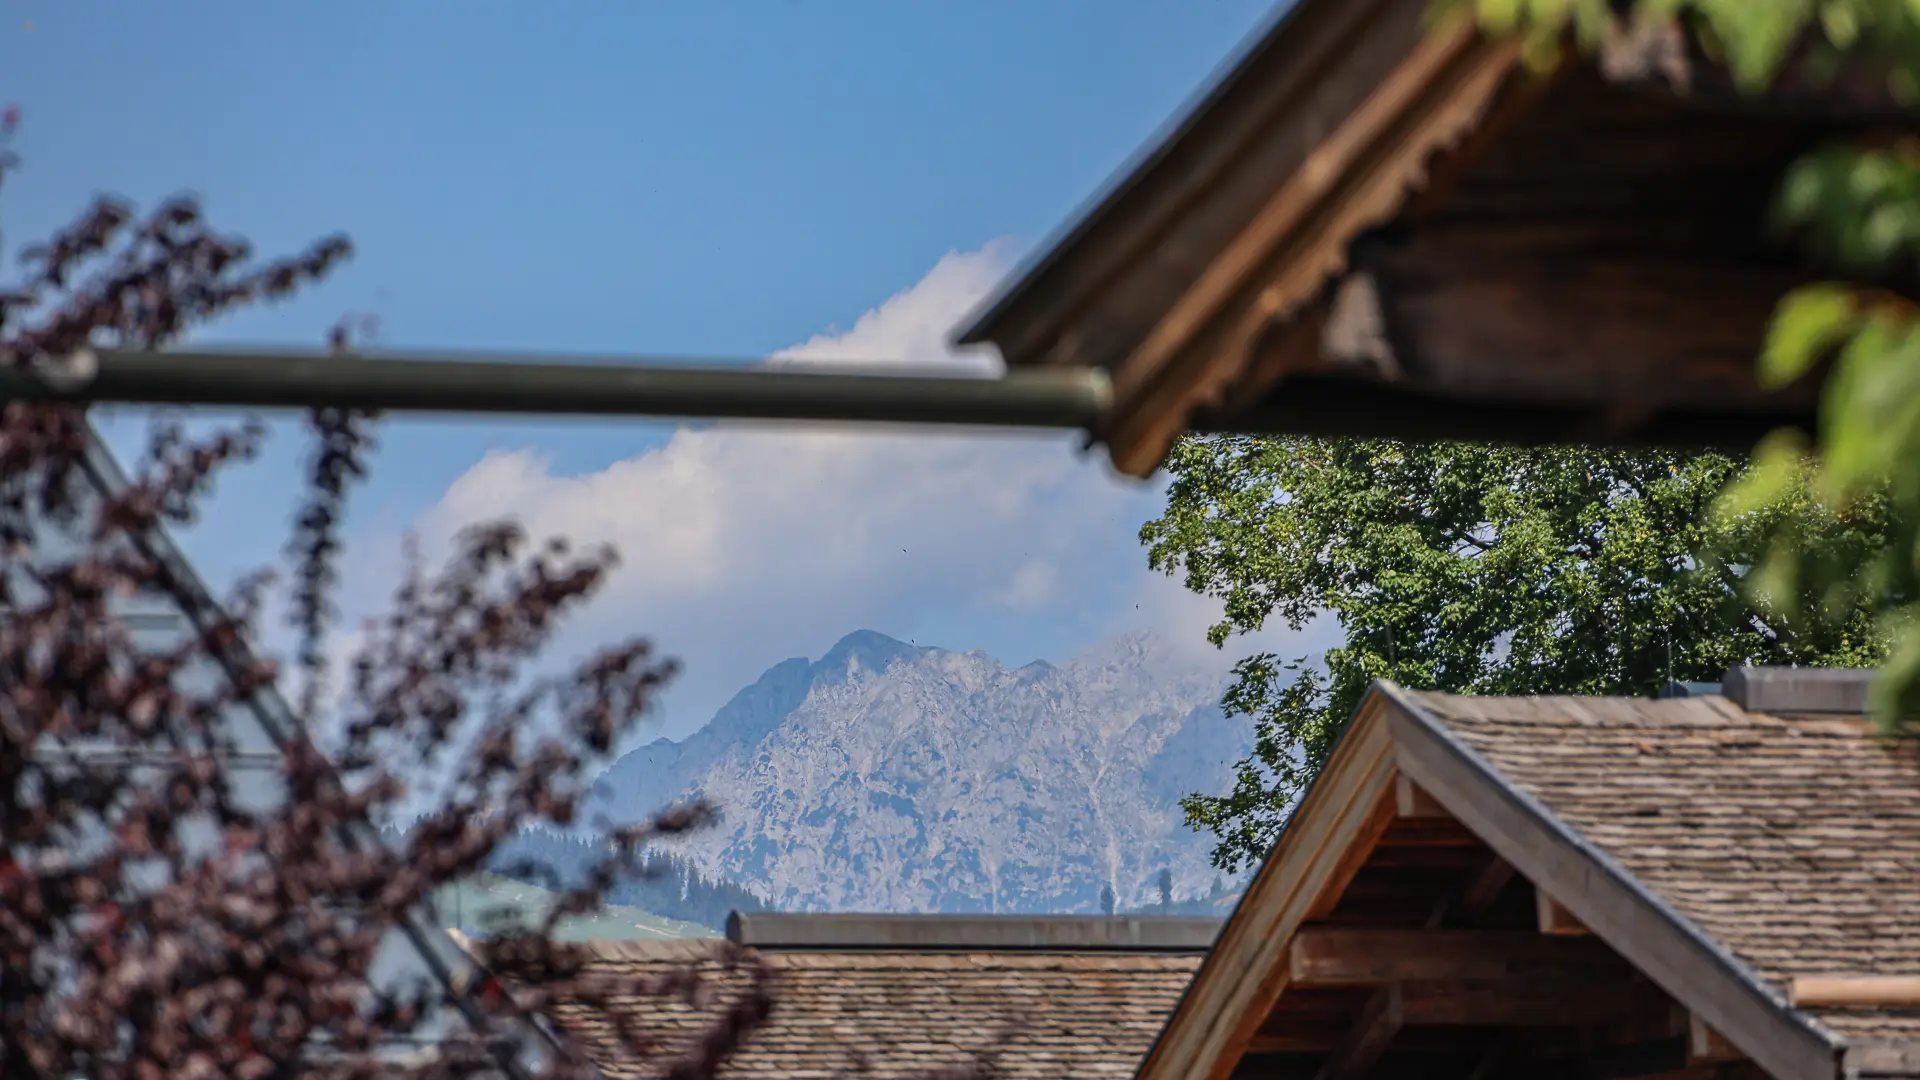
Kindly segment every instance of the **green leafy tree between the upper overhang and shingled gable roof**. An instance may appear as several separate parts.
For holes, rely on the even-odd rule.
[[[1188,436],[1165,513],[1140,528],[1154,569],[1225,601],[1215,646],[1279,619],[1332,621],[1317,661],[1260,653],[1223,705],[1256,723],[1227,794],[1188,822],[1213,861],[1258,863],[1375,678],[1467,694],[1653,694],[1738,663],[1880,659],[1870,613],[1789,626],[1745,596],[1784,521],[1864,557],[1884,521],[1824,515],[1805,488],[1740,517],[1713,500],[1720,455]],[[1701,559],[1699,552],[1720,557]]]

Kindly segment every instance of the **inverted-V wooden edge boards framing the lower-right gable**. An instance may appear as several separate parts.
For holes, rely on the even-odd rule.
[[[1225,1080],[1286,990],[1302,922],[1327,915],[1390,824],[1405,776],[1521,876],[1770,1076],[1830,1080],[1862,1049],[1814,1019],[1619,863],[1507,784],[1413,696],[1375,682],[1221,930],[1140,1080]],[[1382,809],[1384,807],[1384,809]],[[1849,1055],[1851,1057],[1845,1057]]]

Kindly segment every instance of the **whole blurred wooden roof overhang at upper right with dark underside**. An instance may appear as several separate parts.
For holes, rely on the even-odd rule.
[[[960,340],[1108,371],[1092,434],[1140,477],[1188,429],[1745,448],[1811,427],[1816,380],[1753,377],[1811,277],[1768,202],[1805,148],[1895,110],[1705,75],[1682,94],[1645,42],[1542,79],[1427,12],[1298,0]]]

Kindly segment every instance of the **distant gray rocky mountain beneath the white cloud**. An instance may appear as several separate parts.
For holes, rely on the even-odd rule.
[[[720,826],[676,847],[783,909],[1091,913],[1108,884],[1158,901],[1162,869],[1194,896],[1210,838],[1179,799],[1227,790],[1252,744],[1221,690],[1150,634],[1008,671],[860,630],[620,757],[589,819],[705,794]]]

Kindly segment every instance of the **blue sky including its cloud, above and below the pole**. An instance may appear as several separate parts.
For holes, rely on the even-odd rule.
[[[25,167],[8,246],[98,190],[194,190],[263,254],[346,231],[305,298],[202,340],[941,359],[954,319],[1071,219],[1269,17],[1265,0],[0,0]],[[891,304],[889,304],[891,300]],[[818,338],[818,340],[816,340]],[[144,419],[117,413],[123,455]],[[276,559],[300,442],[184,536],[215,580]],[[403,530],[513,513],[620,544],[582,625],[687,663],[666,730],[872,626],[1010,663],[1204,605],[1133,542],[1158,505],[1060,438],[407,421],[351,519],[349,607]],[[893,559],[891,555],[899,555]]]

